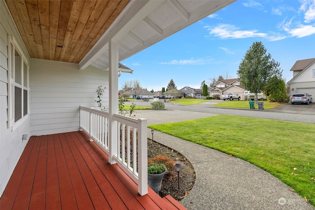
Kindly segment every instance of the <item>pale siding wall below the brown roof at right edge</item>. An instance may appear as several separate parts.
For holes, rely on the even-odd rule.
[[[315,97],[315,63],[302,71],[296,78],[290,82],[290,95],[298,92],[307,92]]]

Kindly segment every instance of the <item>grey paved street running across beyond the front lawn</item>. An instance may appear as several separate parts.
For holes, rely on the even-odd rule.
[[[161,100],[163,101],[163,100]],[[139,106],[151,106],[149,102],[146,101],[133,101]],[[222,100],[209,100],[197,105],[181,105],[178,103],[166,102],[165,110],[153,111],[153,110],[136,110],[137,118],[146,118],[150,120],[157,120],[158,123],[163,123],[163,118],[180,118],[182,120],[193,120],[198,118],[210,117],[213,115],[236,115],[236,116],[246,116],[254,118],[265,118],[272,120],[285,120],[285,121],[295,121],[295,122],[307,122],[315,123],[315,103],[310,105],[295,104],[291,105],[289,103],[281,105],[280,107],[274,108],[272,110],[252,110],[252,109],[238,109],[238,108],[221,108],[215,107],[213,104],[223,102]],[[131,104],[131,102],[125,102],[126,105]],[[174,112],[180,111],[180,112]],[[184,116],[178,116],[184,115]],[[147,116],[147,117],[146,117]],[[178,121],[171,120],[171,121]],[[165,120],[166,122],[166,120]],[[153,124],[153,123],[148,123]]]

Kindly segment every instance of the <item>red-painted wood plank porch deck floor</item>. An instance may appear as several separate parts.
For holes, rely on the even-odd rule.
[[[30,138],[1,198],[0,210],[177,210],[171,196],[137,184],[83,132]]]

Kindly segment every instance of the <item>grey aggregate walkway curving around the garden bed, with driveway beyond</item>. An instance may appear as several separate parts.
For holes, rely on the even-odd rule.
[[[148,125],[209,116],[213,114],[137,111],[137,118],[146,118]],[[314,210],[283,182],[244,160],[158,131],[154,140],[182,153],[195,169],[194,186],[180,202],[188,210]]]

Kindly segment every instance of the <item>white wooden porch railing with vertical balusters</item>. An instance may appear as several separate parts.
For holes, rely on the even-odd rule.
[[[117,139],[110,139],[108,112],[80,106],[80,129],[138,184],[139,194],[145,195],[148,193],[147,120],[118,114],[112,120],[117,123],[117,130],[113,131],[117,132]],[[117,146],[113,154],[110,146]]]

